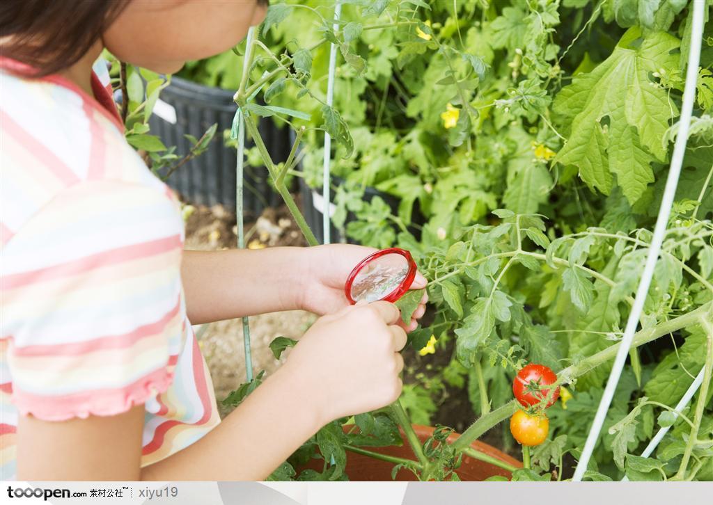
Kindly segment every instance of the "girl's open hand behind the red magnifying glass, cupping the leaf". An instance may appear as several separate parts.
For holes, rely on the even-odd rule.
[[[377,249],[373,247],[351,244],[329,244],[307,248],[305,250],[307,265],[303,269],[304,277],[301,283],[303,288],[299,305],[305,311],[316,313],[319,316],[333,314],[349,306],[349,301],[344,296],[344,283],[347,282],[347,276],[359,261],[376,251]],[[426,278],[417,272],[411,289],[425,287]],[[413,331],[416,329],[417,320],[426,311],[427,301],[429,301],[429,297],[424,293],[419,307],[411,316],[411,323],[408,326],[399,323],[404,330]]]

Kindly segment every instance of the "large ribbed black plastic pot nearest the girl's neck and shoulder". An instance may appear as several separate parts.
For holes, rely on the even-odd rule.
[[[217,123],[217,132],[210,147],[200,156],[176,170],[166,181],[189,202],[195,204],[223,204],[235,208],[235,149],[223,143],[223,131],[230,130],[235,103],[229,90],[212,88],[189,80],[173,77],[170,85],[160,95],[163,102],[175,111],[173,115],[165,106],[155,109],[150,118],[151,132],[158,135],[165,145],[177,146],[178,155],[190,150],[190,142],[185,134],[196,138]],[[167,120],[168,118],[168,120]],[[289,154],[288,128],[279,128],[266,118],[259,124],[262,140],[275,163],[287,159]],[[246,147],[252,142],[246,143]],[[268,182],[269,175],[264,167],[245,167],[245,190],[243,208],[246,217],[260,216],[265,207],[280,204],[279,194]]]

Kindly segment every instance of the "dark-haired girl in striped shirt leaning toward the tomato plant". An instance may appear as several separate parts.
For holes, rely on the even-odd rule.
[[[178,202],[92,72],[107,48],[173,73],[266,3],[0,4],[2,479],[264,479],[330,420],[399,397],[416,321],[342,293],[372,250],[182,251]],[[220,422],[191,323],[295,308],[322,318]]]

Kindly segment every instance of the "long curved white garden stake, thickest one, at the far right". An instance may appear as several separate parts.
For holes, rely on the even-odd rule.
[[[624,368],[624,363],[626,361],[627,354],[629,353],[634,333],[636,332],[637,324],[644,308],[644,302],[649,291],[651,279],[654,275],[654,267],[656,266],[656,261],[661,251],[661,244],[663,243],[666,234],[666,226],[671,214],[671,207],[673,205],[673,199],[676,194],[676,187],[681,173],[683,155],[686,150],[688,129],[691,122],[693,101],[696,93],[698,63],[701,56],[701,40],[703,36],[704,4],[705,0],[693,0],[692,3],[693,21],[691,43],[688,55],[688,67],[686,69],[686,87],[683,93],[683,105],[681,108],[681,118],[679,120],[679,131],[673,148],[671,166],[666,179],[666,187],[664,189],[664,195],[661,199],[661,207],[659,209],[659,215],[656,219],[656,226],[654,228],[653,238],[647,254],[646,264],[641,276],[641,281],[639,282],[639,287],[636,291],[634,305],[629,313],[629,319],[626,324],[626,329],[624,330],[624,336],[622,337],[621,345],[617,351],[617,356],[609,375],[609,380],[607,381],[604,394],[602,395],[602,400],[599,403],[597,413],[594,417],[594,422],[592,423],[592,427],[587,436],[587,442],[585,442],[582,456],[580,457],[574,476],[572,477],[573,481],[581,481],[584,477],[589,459],[592,457],[592,452],[597,444],[597,439],[599,439],[602,424],[604,423],[604,419],[607,415],[607,410],[609,410],[609,406],[611,405],[612,397],[614,396],[614,392],[621,377],[622,368]]]

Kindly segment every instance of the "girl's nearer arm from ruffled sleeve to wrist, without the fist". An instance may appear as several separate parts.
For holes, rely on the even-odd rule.
[[[314,391],[304,395],[302,382],[299,375],[278,371],[199,442],[143,469],[143,405],[120,415],[65,422],[21,417],[18,479],[265,479],[320,427]]]

